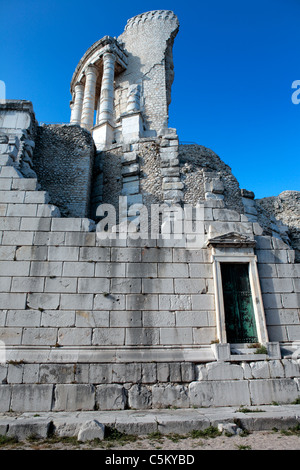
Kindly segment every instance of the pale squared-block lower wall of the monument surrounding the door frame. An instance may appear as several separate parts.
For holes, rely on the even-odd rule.
[[[37,179],[24,178],[14,166],[16,145],[2,148],[0,173],[1,411],[289,403],[299,396],[299,360],[288,352],[216,361],[209,249],[187,249],[183,240],[99,240],[92,220],[60,217]],[[143,151],[159,161],[153,142],[139,145],[144,160]],[[222,198],[206,200],[204,227],[215,236],[255,237],[269,341],[288,351],[300,334],[294,251],[224,208]]]

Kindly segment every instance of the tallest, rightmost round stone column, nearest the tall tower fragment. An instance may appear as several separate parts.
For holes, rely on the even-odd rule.
[[[110,52],[106,52],[103,55],[99,124],[107,121],[112,123],[113,120],[115,60],[114,54]]]

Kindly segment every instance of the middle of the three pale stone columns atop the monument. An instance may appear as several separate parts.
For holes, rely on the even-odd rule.
[[[90,130],[94,124],[95,94],[98,69],[89,65],[85,71],[84,98],[81,114],[81,126]]]

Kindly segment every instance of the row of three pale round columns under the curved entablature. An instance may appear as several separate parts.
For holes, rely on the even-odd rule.
[[[103,76],[97,106],[97,125],[113,120],[115,60],[115,55],[111,52],[103,54]],[[76,83],[74,87],[75,96],[70,122],[88,130],[94,125],[98,73],[99,70],[95,65],[88,65],[85,70],[85,85]]]

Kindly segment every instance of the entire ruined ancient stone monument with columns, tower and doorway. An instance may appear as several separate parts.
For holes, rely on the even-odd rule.
[[[178,29],[151,11],[93,44],[70,124],[0,104],[1,412],[300,396],[299,192],[257,200],[179,144]]]

